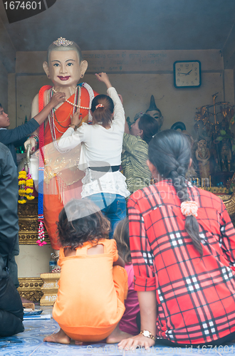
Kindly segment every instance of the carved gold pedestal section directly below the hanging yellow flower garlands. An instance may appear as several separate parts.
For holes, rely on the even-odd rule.
[[[38,240],[38,199],[18,205],[19,215],[19,244],[36,245]],[[45,231],[45,241],[50,244]]]

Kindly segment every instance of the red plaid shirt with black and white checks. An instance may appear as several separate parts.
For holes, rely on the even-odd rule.
[[[157,337],[196,344],[235,331],[235,230],[219,197],[188,192],[199,206],[202,259],[171,182],[137,190],[128,215],[135,290],[156,290]]]

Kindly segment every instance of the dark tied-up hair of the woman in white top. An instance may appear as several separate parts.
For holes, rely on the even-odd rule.
[[[96,108],[99,104],[103,106]],[[112,122],[113,110],[113,100],[108,95],[100,94],[95,96],[90,108],[90,111],[93,113],[93,123],[98,124],[102,122],[103,127],[107,127]]]

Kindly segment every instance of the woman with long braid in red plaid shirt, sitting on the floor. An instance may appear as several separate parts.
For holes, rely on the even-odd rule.
[[[158,132],[155,184],[128,200],[141,332],[120,347],[221,345],[235,339],[235,230],[223,201],[185,179],[189,140]]]

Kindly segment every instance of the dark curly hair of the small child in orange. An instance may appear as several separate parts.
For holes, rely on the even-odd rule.
[[[71,248],[81,247],[86,241],[95,244],[105,239],[110,231],[110,221],[88,199],[69,201],[59,214],[57,226],[61,245]]]

